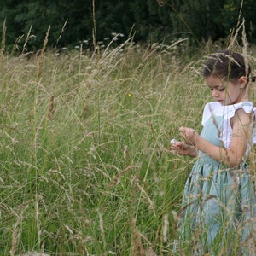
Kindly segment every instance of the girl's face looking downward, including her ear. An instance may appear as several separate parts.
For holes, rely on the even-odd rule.
[[[242,77],[243,78],[243,77]],[[213,98],[223,106],[243,102],[247,82],[239,79],[236,83],[225,81],[217,76],[206,78],[207,85],[212,90]]]

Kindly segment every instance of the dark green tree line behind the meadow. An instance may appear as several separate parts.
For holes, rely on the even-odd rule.
[[[93,47],[116,34],[135,42],[170,44],[189,38],[196,44],[228,37],[242,19],[248,41],[256,43],[255,8],[254,0],[5,0],[2,44],[40,49],[48,30],[49,47]]]

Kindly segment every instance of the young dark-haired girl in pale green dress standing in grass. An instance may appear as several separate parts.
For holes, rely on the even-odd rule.
[[[256,198],[246,163],[256,142],[251,67],[239,53],[221,50],[203,77],[215,102],[204,108],[201,134],[180,127],[182,140],[171,141],[173,154],[197,157],[184,188],[177,247],[188,255],[256,255]]]

